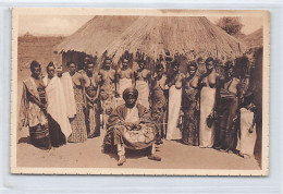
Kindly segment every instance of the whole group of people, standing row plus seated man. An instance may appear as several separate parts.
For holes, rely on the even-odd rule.
[[[164,140],[254,155],[254,94],[234,61],[220,65],[198,58],[182,73],[177,59],[157,60],[153,71],[143,58],[135,70],[130,60],[122,58],[114,70],[106,57],[95,71],[86,58],[83,70],[69,62],[65,73],[50,62],[45,77],[33,61],[23,83],[20,129],[29,126],[30,143],[44,149],[85,142],[104,129],[104,151],[116,151],[119,166],[126,161],[125,148],[149,149],[148,158],[160,161],[156,145]]]

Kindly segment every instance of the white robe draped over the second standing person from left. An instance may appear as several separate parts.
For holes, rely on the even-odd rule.
[[[48,77],[44,78],[46,94],[48,99],[47,112],[60,125],[62,133],[67,138],[72,133],[72,128],[66,114],[66,104],[63,93],[63,86],[58,76],[51,78],[47,84]]]

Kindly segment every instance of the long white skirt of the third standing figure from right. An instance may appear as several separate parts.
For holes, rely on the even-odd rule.
[[[212,147],[214,143],[214,123],[209,128],[207,118],[216,105],[216,88],[202,87],[200,92],[199,146]]]

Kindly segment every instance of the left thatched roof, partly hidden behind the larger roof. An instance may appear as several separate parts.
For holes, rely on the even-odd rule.
[[[137,19],[138,16],[97,15],[65,38],[54,50],[101,54],[106,47]]]

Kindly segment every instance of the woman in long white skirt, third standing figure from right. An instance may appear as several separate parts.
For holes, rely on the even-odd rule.
[[[212,147],[214,143],[214,116],[217,73],[213,58],[206,60],[206,73],[200,80],[199,147]]]

